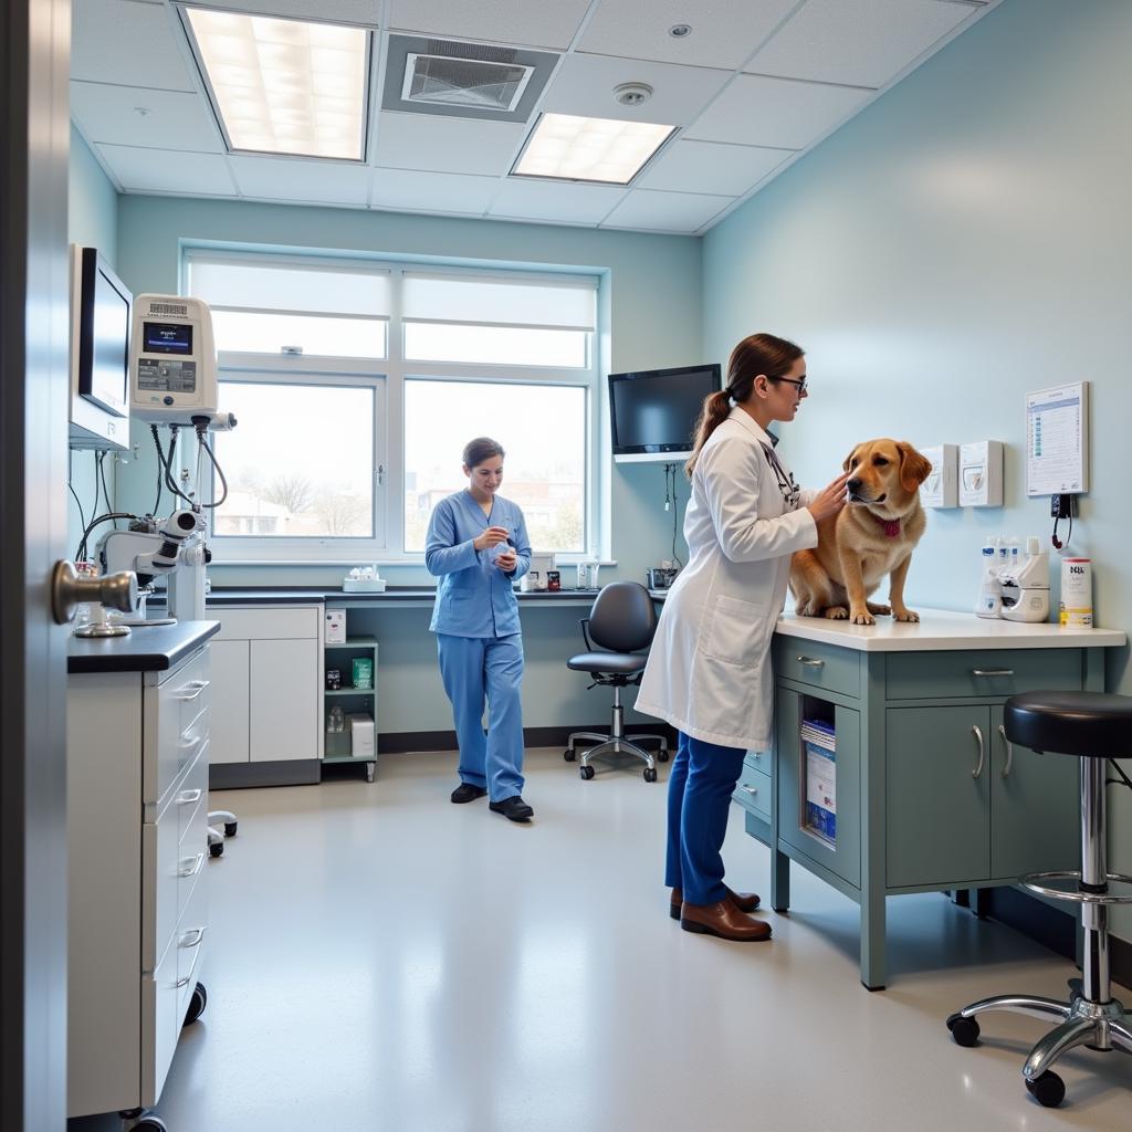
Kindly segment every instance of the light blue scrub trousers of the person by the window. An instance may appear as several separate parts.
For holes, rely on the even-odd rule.
[[[523,792],[523,638],[436,635],[440,679],[452,701],[460,780],[492,801]],[[483,730],[487,703],[488,727]]]

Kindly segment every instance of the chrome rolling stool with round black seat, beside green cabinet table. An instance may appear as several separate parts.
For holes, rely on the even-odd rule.
[[[1046,692],[1011,696],[1004,711],[1006,738],[1035,751],[1077,755],[1081,760],[1081,872],[1029,873],[1019,883],[1054,900],[1081,906],[1084,961],[1081,979],[1070,979],[1067,1003],[1032,995],[996,995],[964,1006],[947,1019],[961,1046],[979,1040],[975,1015],[1006,1010],[1055,1018],[1055,1026],[1022,1066],[1026,1087],[1047,1108],[1062,1103],[1065,1084],[1049,1066],[1075,1046],[1132,1053],[1132,1015],[1112,996],[1108,979],[1108,906],[1132,903],[1132,894],[1109,892],[1109,884],[1132,884],[1132,876],[1107,872],[1105,860],[1105,760],[1132,752],[1132,696],[1095,692]],[[1073,889],[1049,881],[1075,881]]]

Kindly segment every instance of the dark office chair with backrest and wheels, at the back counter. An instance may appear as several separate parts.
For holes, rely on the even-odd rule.
[[[660,745],[653,756],[644,747],[637,746],[625,737],[624,709],[621,707],[621,688],[629,684],[640,684],[648,653],[638,650],[652,644],[657,632],[657,610],[653,608],[649,591],[638,582],[614,582],[604,586],[593,602],[589,617],[581,620],[582,638],[586,651],[571,657],[566,667],[575,672],[589,672],[593,677],[594,687],[608,684],[614,689],[614,721],[609,735],[597,731],[575,731],[568,741],[563,758],[572,763],[577,758],[574,749],[580,740],[591,740],[597,746],[582,755],[578,774],[583,779],[592,779],[591,760],[604,755],[636,755],[644,761],[645,782],[657,781],[657,758],[668,762],[668,739],[662,735],[635,735],[634,739],[651,739]],[[589,632],[586,632],[589,626]],[[591,642],[592,637],[592,642]],[[594,645],[598,646],[597,651]]]

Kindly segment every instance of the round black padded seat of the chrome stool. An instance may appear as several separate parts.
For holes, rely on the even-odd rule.
[[[1027,692],[1004,709],[1006,738],[1032,751],[1082,758],[1126,758],[1132,696],[1101,692]]]

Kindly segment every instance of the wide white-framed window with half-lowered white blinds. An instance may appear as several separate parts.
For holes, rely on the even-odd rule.
[[[537,550],[597,537],[598,281],[361,259],[186,254],[209,303],[229,499],[218,560],[415,559],[475,436]]]

